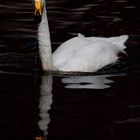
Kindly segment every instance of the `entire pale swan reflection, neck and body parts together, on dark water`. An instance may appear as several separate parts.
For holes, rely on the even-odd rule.
[[[62,78],[62,82],[67,84],[65,88],[77,89],[106,89],[111,87],[113,80],[110,77],[123,75],[95,75],[95,76],[69,76]],[[41,97],[39,99],[40,120],[38,121],[39,129],[43,132],[43,138],[47,139],[48,124],[50,123],[50,116],[48,111],[51,109],[53,103],[52,95],[52,76],[43,76],[42,84],[40,86]]]

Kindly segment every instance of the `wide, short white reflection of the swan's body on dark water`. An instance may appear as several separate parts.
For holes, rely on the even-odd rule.
[[[65,88],[74,89],[106,89],[111,87],[113,80],[109,77],[117,75],[95,75],[95,76],[70,76],[62,78],[62,82],[66,84]]]

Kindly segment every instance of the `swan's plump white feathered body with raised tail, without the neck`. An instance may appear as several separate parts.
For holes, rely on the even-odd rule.
[[[111,38],[78,37],[64,42],[53,53],[53,64],[60,71],[95,72],[116,62],[118,53],[124,52],[127,35]]]

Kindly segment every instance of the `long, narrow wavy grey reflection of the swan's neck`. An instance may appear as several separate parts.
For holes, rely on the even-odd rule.
[[[40,109],[40,121],[38,122],[39,129],[44,133],[44,137],[48,135],[47,129],[50,123],[50,116],[48,111],[51,108],[53,102],[52,99],[52,76],[43,76],[42,84],[40,86],[41,97],[39,99],[39,109]]]

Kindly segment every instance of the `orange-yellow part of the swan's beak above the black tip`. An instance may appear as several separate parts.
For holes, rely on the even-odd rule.
[[[42,0],[34,0],[34,16],[42,16]]]

